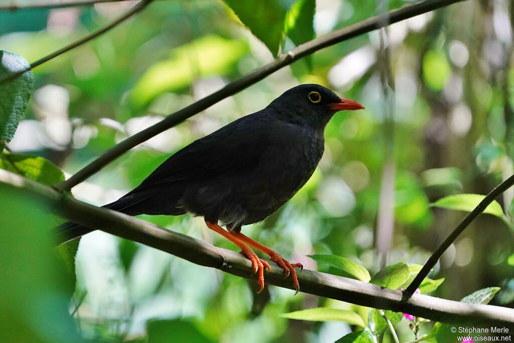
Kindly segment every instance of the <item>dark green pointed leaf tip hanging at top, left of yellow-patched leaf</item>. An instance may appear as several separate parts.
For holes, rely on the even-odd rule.
[[[241,23],[263,42],[273,56],[279,52],[289,0],[224,0]]]

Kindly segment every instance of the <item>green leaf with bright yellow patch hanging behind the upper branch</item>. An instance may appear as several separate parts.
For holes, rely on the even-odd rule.
[[[296,46],[314,39],[314,14],[316,0],[297,0],[286,13],[284,31]],[[312,69],[311,55],[305,56],[309,69]]]

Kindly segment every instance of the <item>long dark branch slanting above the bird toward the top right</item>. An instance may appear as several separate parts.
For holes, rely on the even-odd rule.
[[[209,108],[215,103],[222,101],[223,99],[228,98],[233,94],[263,80],[273,72],[285,66],[288,66],[291,63],[298,61],[299,59],[307,55],[310,55],[328,46],[332,46],[337,43],[347,41],[363,33],[368,33],[375,29],[384,27],[386,25],[386,23],[384,23],[383,20],[384,16],[387,17],[389,24],[393,24],[400,22],[402,20],[406,20],[407,18],[411,18],[413,16],[430,12],[437,8],[448,6],[453,3],[461,1],[464,0],[424,0],[419,3],[405,6],[383,15],[368,18],[357,24],[350,25],[346,28],[328,33],[315,40],[299,45],[298,47],[292,49],[286,54],[281,55],[276,60],[262,66],[261,68],[253,70],[249,74],[246,74],[241,79],[229,83],[225,87],[215,91],[209,96],[176,111],[175,113],[171,114],[162,121],[118,143],[111,149],[107,150],[95,161],[89,163],[84,168],[79,170],[79,172],[77,172],[75,175],[57,185],[57,187],[62,190],[69,190],[73,188],[74,186],[81,183],[91,175],[97,173],[105,165],[114,161],[119,156],[126,153],[126,151],[132,149],[133,147],[185,121],[186,119],[196,115],[196,113],[199,113]]]

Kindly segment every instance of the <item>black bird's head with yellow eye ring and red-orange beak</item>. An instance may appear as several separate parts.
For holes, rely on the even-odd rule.
[[[304,84],[285,91],[269,105],[284,119],[324,128],[338,111],[363,109],[353,101],[341,99],[332,90],[317,84]]]

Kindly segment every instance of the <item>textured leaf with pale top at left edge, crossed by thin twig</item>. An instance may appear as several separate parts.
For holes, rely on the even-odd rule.
[[[29,67],[22,56],[0,50],[0,80]],[[32,94],[33,79],[32,71],[29,70],[19,77],[0,83],[0,142],[9,142],[14,137]]]

